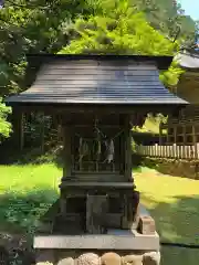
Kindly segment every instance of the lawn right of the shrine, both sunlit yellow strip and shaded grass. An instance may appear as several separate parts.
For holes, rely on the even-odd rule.
[[[199,181],[145,168],[134,176],[142,202],[156,220],[161,242],[199,245]],[[164,246],[161,253],[163,265],[198,265],[199,250]]]

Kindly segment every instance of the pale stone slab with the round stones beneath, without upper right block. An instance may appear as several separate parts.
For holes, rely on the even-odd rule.
[[[42,252],[49,255],[49,262],[54,261],[53,265],[62,264],[62,259],[71,265],[72,259],[69,258],[82,265],[159,265],[160,261],[158,234],[143,235],[135,230],[108,230],[104,235],[38,235],[34,237],[34,248],[40,250],[40,255]],[[52,251],[51,255],[49,251]],[[86,253],[80,262],[78,256]],[[94,256],[91,253],[101,256],[98,262],[96,256],[92,261]]]

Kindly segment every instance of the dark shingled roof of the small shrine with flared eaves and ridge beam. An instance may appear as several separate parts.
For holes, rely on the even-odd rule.
[[[7,99],[17,104],[143,105],[187,102],[159,81],[170,56],[140,55],[29,55],[36,77],[25,92]]]

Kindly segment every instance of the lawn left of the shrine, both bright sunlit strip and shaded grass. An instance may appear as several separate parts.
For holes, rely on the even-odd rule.
[[[53,163],[0,166],[0,231],[32,233],[57,199],[61,176]]]

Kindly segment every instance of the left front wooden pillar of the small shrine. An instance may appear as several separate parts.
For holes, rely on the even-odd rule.
[[[71,142],[72,142],[72,127],[64,126],[64,151],[63,151],[63,178],[71,177],[72,174],[72,159],[71,159]]]

